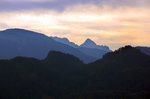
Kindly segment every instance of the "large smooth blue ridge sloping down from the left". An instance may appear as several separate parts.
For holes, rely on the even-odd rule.
[[[10,59],[15,56],[44,59],[50,50],[72,54],[85,63],[95,61],[81,51],[66,44],[33,31],[23,29],[7,29],[0,31],[0,59]]]

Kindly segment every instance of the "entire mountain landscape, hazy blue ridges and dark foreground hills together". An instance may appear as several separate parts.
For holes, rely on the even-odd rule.
[[[150,48],[111,51],[24,29],[0,31],[0,99],[150,99]]]

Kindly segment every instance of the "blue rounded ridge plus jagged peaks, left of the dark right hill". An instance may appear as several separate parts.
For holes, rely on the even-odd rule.
[[[92,47],[91,42],[94,47]],[[83,45],[88,44],[90,48],[86,46],[83,47]],[[24,29],[7,29],[0,31],[0,45],[0,59],[10,59],[16,56],[44,59],[49,51],[55,50],[69,53],[85,63],[90,63],[110,51],[108,47],[104,50],[103,46],[96,45],[89,39],[81,46],[78,46],[70,42],[67,38],[48,37]],[[98,48],[95,46],[98,46]]]

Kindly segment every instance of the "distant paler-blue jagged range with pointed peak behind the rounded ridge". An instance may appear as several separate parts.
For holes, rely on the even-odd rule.
[[[91,39],[87,39],[83,44],[78,46],[77,44],[70,42],[67,38],[59,38],[59,37],[50,37],[50,38],[60,43],[74,47],[77,50],[81,51],[82,53],[94,57],[95,59],[100,59],[103,57],[104,54],[111,51],[108,46],[97,45]]]

